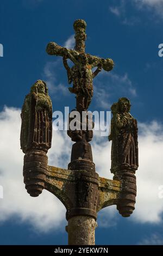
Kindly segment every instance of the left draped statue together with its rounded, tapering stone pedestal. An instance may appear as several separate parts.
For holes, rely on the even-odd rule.
[[[45,187],[46,154],[52,142],[52,102],[45,82],[38,80],[32,86],[24,100],[21,118],[24,183],[30,196],[37,197]]]

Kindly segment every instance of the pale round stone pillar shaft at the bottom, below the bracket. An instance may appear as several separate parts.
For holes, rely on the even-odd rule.
[[[68,220],[68,245],[95,245],[97,222],[90,216],[74,216]]]

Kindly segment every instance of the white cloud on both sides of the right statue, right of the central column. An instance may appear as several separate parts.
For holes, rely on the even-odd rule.
[[[101,176],[112,179],[110,174],[111,143],[107,137],[92,141],[96,169]],[[141,223],[160,223],[163,199],[158,197],[159,186],[163,185],[162,174],[163,127],[153,121],[139,123],[139,169],[136,171],[137,197],[135,211],[130,220]],[[107,211],[107,210],[106,210]]]

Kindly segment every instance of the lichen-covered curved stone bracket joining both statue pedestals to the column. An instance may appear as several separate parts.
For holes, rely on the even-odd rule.
[[[73,191],[76,190],[77,180],[80,179],[81,183],[82,174],[83,173],[80,172],[79,170],[66,170],[58,167],[48,166],[45,181],[45,189],[53,193],[65,205],[65,208],[67,210],[67,218],[68,216],[70,217],[71,210],[75,209],[75,206],[78,204],[77,193],[74,193]],[[84,178],[85,182],[87,182],[86,179],[89,179],[90,177],[88,178],[85,176]],[[96,184],[96,182],[98,182],[98,191],[96,195],[97,202],[95,205],[96,211],[98,212],[99,210],[105,208],[106,206],[117,204],[118,199],[121,198],[121,182],[98,177],[97,173],[96,178],[94,179],[95,180],[91,178],[91,180],[89,180],[91,184],[91,186],[87,186],[90,187],[89,191],[87,191],[87,194],[83,194],[82,198],[83,200],[85,200],[85,203],[87,203],[86,197],[89,196],[89,193],[91,194],[91,188],[93,190],[93,184]],[[96,194],[95,191],[94,194]],[[83,215],[91,215],[91,212],[87,210],[86,214],[84,214],[83,211]],[[92,211],[92,215],[95,217],[95,212]]]

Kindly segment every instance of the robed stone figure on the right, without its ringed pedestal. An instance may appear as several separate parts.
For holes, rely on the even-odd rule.
[[[121,98],[126,99],[126,98]],[[138,143],[137,143],[137,122],[128,110],[121,107],[122,100],[112,105],[111,134],[111,172],[115,173],[120,169],[136,170],[138,163]]]

